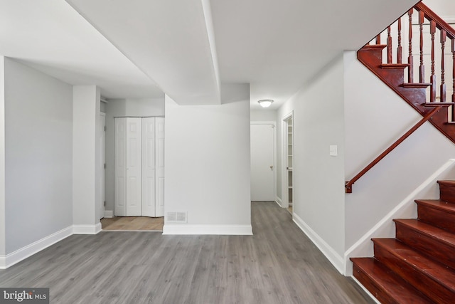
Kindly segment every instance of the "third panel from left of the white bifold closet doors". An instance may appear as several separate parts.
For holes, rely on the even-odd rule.
[[[155,118],[142,118],[142,215],[155,216]]]

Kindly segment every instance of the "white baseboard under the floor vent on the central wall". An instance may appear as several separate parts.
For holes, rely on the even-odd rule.
[[[251,225],[173,225],[164,224],[163,234],[252,235]]]

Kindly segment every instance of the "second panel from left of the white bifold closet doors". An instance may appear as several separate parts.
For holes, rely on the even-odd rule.
[[[127,117],[127,216],[142,215],[142,122]]]

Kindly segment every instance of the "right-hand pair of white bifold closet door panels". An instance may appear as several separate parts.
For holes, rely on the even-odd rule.
[[[164,118],[142,118],[142,215],[164,216]]]

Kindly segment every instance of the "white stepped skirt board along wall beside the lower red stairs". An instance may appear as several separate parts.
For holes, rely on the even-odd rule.
[[[419,197],[439,199],[439,186],[437,180],[455,179],[455,159],[448,159],[433,174],[419,184],[409,195],[400,201],[394,209],[378,221],[366,234],[364,234],[353,246],[350,246],[344,254],[344,275],[353,276],[353,263],[350,258],[357,256],[373,256],[373,242],[375,238],[395,239],[395,223],[393,219],[417,218],[417,205],[414,200]]]

